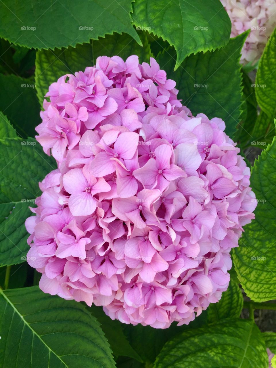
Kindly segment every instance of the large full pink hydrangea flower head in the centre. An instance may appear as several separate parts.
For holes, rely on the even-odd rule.
[[[254,218],[250,170],[224,122],[192,116],[175,86],[135,55],[50,86],[36,139],[58,169],[26,220],[45,293],[167,328],[227,289],[229,252]]]

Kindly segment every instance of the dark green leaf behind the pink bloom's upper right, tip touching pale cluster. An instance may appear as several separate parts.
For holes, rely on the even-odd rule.
[[[208,3],[209,4],[209,3]],[[178,96],[195,116],[204,113],[209,118],[225,121],[226,133],[233,138],[239,123],[242,98],[240,50],[248,32],[230,39],[223,49],[188,56],[173,72],[175,53],[159,54],[160,68],[176,81]]]

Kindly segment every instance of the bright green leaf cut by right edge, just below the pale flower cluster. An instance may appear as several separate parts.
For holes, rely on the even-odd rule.
[[[276,116],[276,28],[265,46],[256,74],[256,98],[272,119]]]

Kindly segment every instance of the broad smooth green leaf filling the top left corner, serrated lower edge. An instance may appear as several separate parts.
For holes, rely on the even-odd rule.
[[[1,6],[0,36],[15,45],[35,49],[76,46],[113,32],[130,34],[132,0],[48,1],[6,0]]]

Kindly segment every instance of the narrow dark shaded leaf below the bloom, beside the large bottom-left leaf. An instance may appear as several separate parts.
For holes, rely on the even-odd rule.
[[[92,307],[88,308],[88,311],[91,312],[91,314],[100,322],[101,328],[105,333],[114,356],[130,357],[139,362],[143,362],[141,357],[127,341],[120,321],[117,319],[114,319],[113,321],[105,314],[102,307],[96,307],[96,305],[92,305]]]

